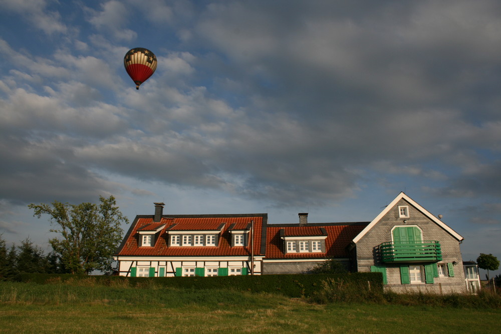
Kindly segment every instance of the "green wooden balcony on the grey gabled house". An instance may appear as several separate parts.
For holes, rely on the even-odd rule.
[[[383,242],[379,245],[382,262],[437,262],[442,260],[440,242]]]

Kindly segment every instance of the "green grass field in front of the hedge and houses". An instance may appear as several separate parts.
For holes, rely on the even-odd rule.
[[[501,309],[316,304],[272,294],[0,282],[0,332],[497,333]]]

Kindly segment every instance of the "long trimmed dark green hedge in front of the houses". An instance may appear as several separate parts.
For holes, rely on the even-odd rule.
[[[124,277],[88,276],[72,274],[19,274],[16,280],[46,284],[57,281],[83,280],[93,278],[97,284],[111,285],[125,283],[129,286],[165,286],[183,289],[233,289],[250,292],[280,293],[289,297],[311,296],[323,287],[329,278],[342,282],[344,286],[360,289],[383,290],[383,279],[379,272],[356,272],[344,274],[281,274],[256,276],[215,277]],[[124,284],[122,284],[124,285]],[[127,284],[125,284],[127,285]]]

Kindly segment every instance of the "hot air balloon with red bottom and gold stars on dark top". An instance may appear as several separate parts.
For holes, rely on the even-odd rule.
[[[151,77],[156,65],[156,56],[148,49],[130,49],[124,57],[125,70],[136,84],[136,89]]]

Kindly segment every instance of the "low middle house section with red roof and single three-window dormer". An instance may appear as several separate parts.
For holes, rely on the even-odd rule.
[[[299,224],[268,224],[263,273],[308,273],[329,258],[350,269],[346,246],[367,225],[368,222],[308,223],[308,213],[299,213]]]

